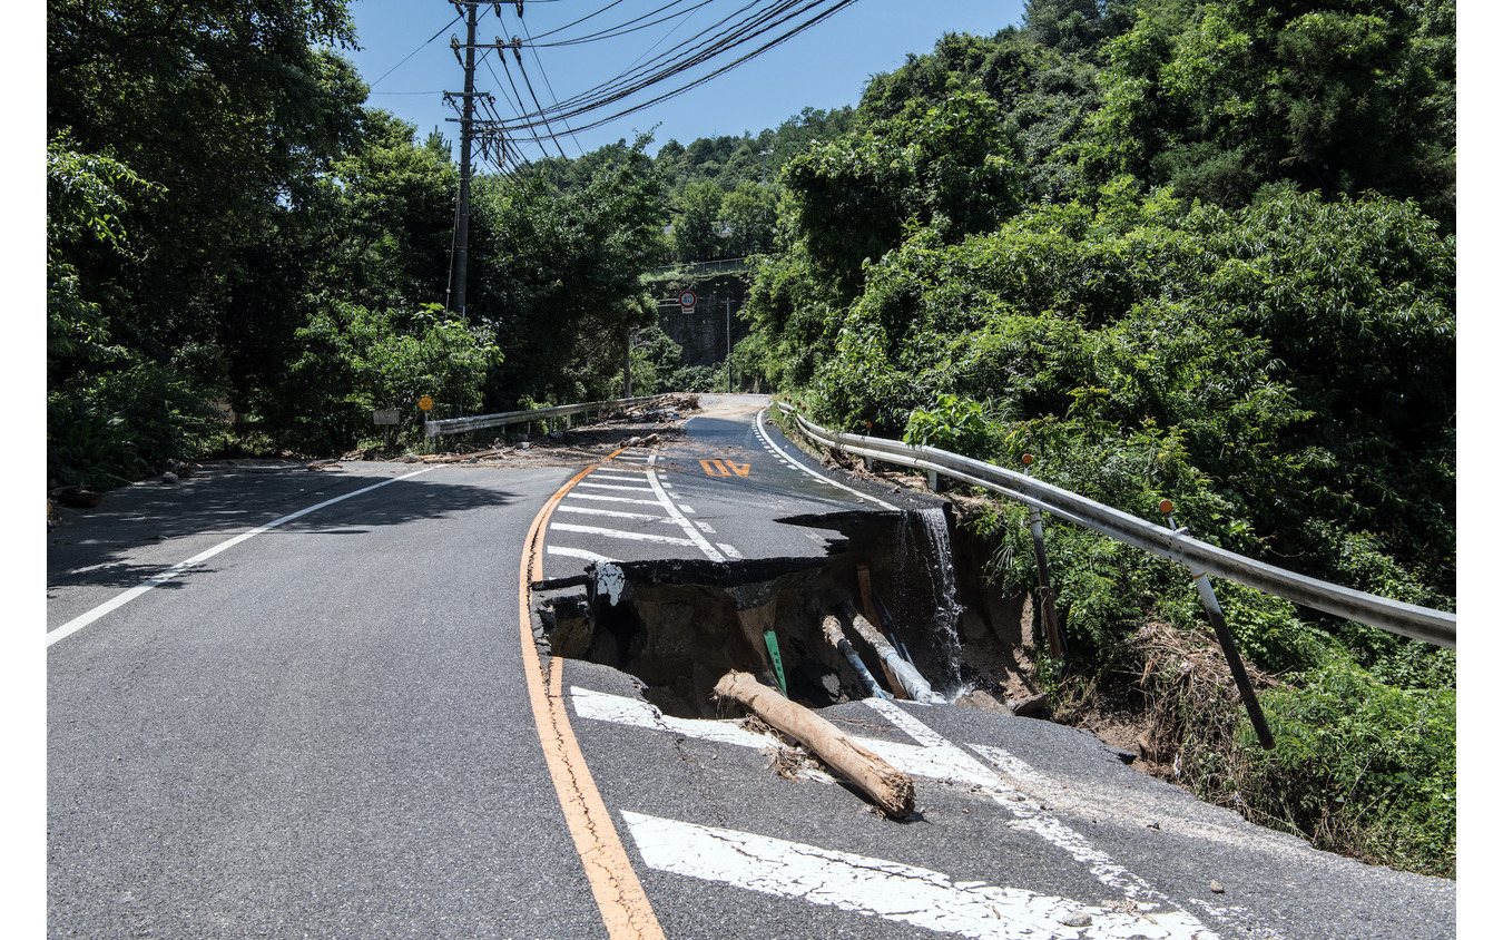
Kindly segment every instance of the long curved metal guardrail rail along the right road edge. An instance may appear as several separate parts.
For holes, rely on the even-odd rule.
[[[1042,483],[1016,471],[932,447],[909,445],[900,441],[866,435],[830,432],[806,420],[783,402],[779,402],[777,406],[785,414],[791,414],[800,429],[810,438],[848,454],[941,474],[962,483],[1003,493],[1075,525],[1162,558],[1178,561],[1189,567],[1196,578],[1201,573],[1216,575],[1217,578],[1235,581],[1237,584],[1284,597],[1306,608],[1371,624],[1389,633],[1422,639],[1437,647],[1456,648],[1455,614],[1389,600],[1377,594],[1366,594],[1326,581],[1306,578],[1305,575],[1296,575],[1294,572],[1207,544],[1180,531],[1145,522],[1121,510]]]

